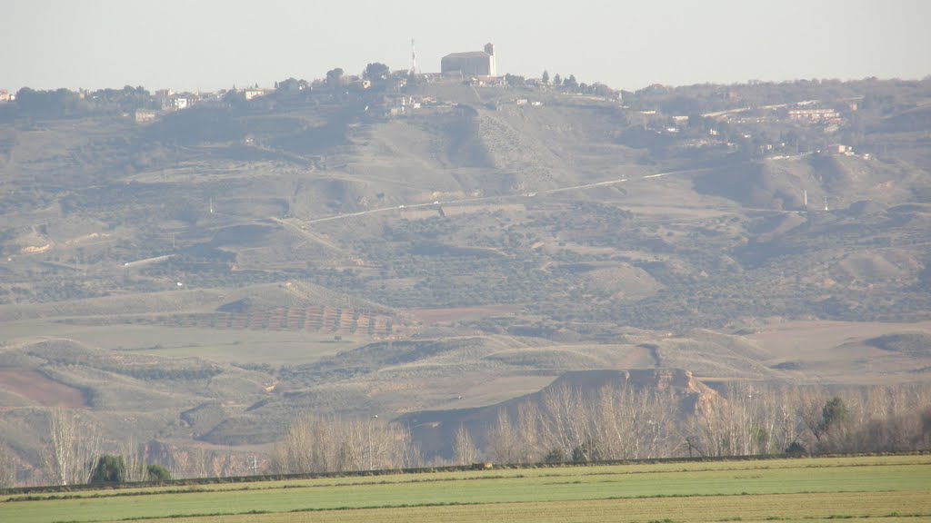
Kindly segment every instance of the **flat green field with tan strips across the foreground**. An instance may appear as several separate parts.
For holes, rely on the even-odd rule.
[[[88,490],[7,495],[0,521],[931,521],[929,465],[884,456]]]

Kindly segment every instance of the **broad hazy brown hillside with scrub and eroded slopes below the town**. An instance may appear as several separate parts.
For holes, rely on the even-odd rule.
[[[926,382],[931,84],[708,89],[7,111],[0,436],[21,476],[55,407],[194,474],[178,463],[245,466],[306,411],[439,416],[415,436],[445,455],[459,423],[599,372]],[[812,100],[829,119],[791,113]]]

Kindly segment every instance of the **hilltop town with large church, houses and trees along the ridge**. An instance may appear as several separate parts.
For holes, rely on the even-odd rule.
[[[545,102],[572,100],[616,104],[628,111],[632,121],[641,123],[644,133],[641,140],[663,143],[664,148],[720,149],[771,159],[816,152],[861,154],[857,146],[862,141],[864,117],[858,109],[873,114],[887,110],[881,97],[874,95],[864,100],[860,94],[870,85],[886,88],[870,79],[847,83],[803,80],[733,88],[653,85],[636,92],[622,92],[598,82],[580,83],[572,74],[563,77],[554,72],[551,77],[545,71],[531,78],[496,75],[494,46],[487,44],[481,51],[444,56],[440,73],[434,74],[413,69],[391,70],[384,63],[373,62],[361,74],[346,74],[336,68],[309,81],[289,77],[277,81],[274,87],[234,86],[215,92],[175,92],[166,88],[150,92],[145,87],[130,86],[96,91],[35,91],[23,87],[15,94],[0,90],[0,103],[4,104],[0,105],[0,120],[22,116],[109,115],[144,125],[196,108],[275,112],[333,102],[362,103],[370,118],[391,118],[415,112],[449,111],[462,101],[432,94],[435,89],[431,87],[451,84],[489,87],[493,94],[486,96],[487,100],[476,94],[469,102],[492,108],[536,107]],[[795,96],[787,97],[786,91],[794,91]],[[806,98],[808,93],[831,96]],[[869,158],[868,152],[862,154]]]

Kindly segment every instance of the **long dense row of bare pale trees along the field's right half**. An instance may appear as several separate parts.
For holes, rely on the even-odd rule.
[[[483,452],[472,440],[460,428],[453,463],[481,455],[531,463],[931,449],[931,385],[828,390],[735,382],[721,395],[692,400],[673,389],[618,385],[586,394],[563,386],[500,409]]]

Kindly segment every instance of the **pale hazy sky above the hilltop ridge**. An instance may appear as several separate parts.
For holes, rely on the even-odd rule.
[[[637,89],[931,74],[928,0],[3,0],[0,88],[212,90],[493,42],[499,74]]]

